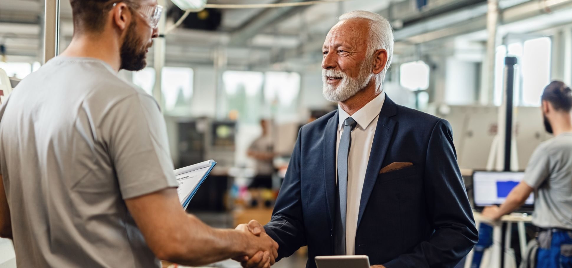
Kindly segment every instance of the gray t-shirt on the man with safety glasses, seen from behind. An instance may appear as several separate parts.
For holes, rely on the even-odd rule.
[[[18,267],[160,267],[124,199],[176,187],[152,97],[97,59],[57,57],[0,109]]]

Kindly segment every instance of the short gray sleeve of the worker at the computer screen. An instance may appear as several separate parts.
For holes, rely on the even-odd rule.
[[[550,174],[549,153],[543,147],[541,145],[534,150],[525,170],[524,182],[534,189],[538,189]]]

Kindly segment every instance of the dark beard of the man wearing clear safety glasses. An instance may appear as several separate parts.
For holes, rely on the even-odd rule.
[[[120,55],[122,70],[139,71],[147,65],[147,53],[141,49],[143,42],[141,38],[137,36],[136,26],[136,22],[129,25],[127,33],[125,34],[125,40],[123,45],[121,45]]]

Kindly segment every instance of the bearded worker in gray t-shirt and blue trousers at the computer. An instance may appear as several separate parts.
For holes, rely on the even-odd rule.
[[[533,224],[539,227],[537,267],[572,267],[572,90],[560,81],[542,93],[546,131],[554,138],[534,151],[525,178],[500,206],[483,216],[498,220],[525,203],[536,190]]]

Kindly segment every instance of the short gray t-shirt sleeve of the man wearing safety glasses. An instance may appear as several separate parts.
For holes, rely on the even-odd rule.
[[[177,186],[165,121],[154,99],[130,95],[102,122],[123,199]]]

